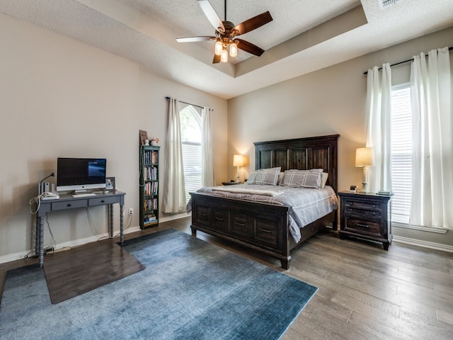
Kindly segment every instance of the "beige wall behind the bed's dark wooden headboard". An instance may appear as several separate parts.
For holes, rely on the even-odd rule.
[[[355,149],[366,140],[367,69],[401,62],[420,52],[453,45],[453,28],[426,35],[348,62],[321,69],[228,101],[229,178],[233,154],[246,154],[250,164],[241,180],[255,169],[253,142],[339,134],[338,188],[361,185],[362,169],[354,166]],[[453,57],[452,57],[453,60]],[[392,68],[394,83],[408,81],[409,67]],[[453,246],[453,232],[433,234],[394,228],[395,235]]]

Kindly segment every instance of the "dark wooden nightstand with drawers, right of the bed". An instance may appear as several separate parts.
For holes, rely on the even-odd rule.
[[[382,242],[389,250],[391,234],[391,196],[340,191],[340,238],[346,236]]]

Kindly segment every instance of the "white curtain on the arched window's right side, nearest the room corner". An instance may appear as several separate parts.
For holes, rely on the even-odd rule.
[[[208,107],[202,108],[202,186],[214,186],[214,152],[212,149],[212,114]]]

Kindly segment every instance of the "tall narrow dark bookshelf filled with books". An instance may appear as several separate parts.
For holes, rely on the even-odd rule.
[[[140,228],[159,224],[159,148],[140,146]]]

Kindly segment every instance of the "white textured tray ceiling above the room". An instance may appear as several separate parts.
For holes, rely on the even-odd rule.
[[[235,24],[270,11],[273,21],[241,35],[266,52],[212,64],[214,35],[197,0],[1,0],[0,11],[126,57],[154,74],[232,98],[453,25],[452,0],[228,0]],[[210,0],[225,19],[224,0]]]

